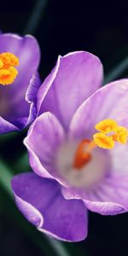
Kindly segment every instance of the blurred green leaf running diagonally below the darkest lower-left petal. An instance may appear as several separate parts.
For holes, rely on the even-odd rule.
[[[27,224],[26,220],[20,217],[20,212],[18,212],[15,207],[12,210],[14,202],[12,201],[13,194],[10,188],[10,182],[13,176],[14,173],[11,172],[9,166],[6,166],[3,160],[0,160],[0,188],[3,188],[3,190],[9,196],[7,200],[8,204],[9,200],[11,200],[9,207],[11,218],[14,218],[15,222],[20,226],[20,229],[26,232],[26,236],[29,236],[29,238],[31,238],[31,240],[36,243],[36,245],[43,251],[43,253],[45,253],[45,255],[69,256],[67,250],[65,249],[65,247],[62,246],[60,241],[55,241],[48,236],[42,236],[41,233],[38,234],[39,232],[34,229],[32,225]],[[5,212],[7,212],[6,208],[7,204],[5,205]],[[48,245],[46,243],[48,243]]]

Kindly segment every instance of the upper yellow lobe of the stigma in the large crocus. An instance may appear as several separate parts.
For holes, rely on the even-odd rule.
[[[118,124],[113,119],[104,119],[95,125],[96,130],[102,131],[103,133],[116,131],[117,127]]]

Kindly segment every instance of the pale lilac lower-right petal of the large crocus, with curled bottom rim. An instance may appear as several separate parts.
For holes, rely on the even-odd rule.
[[[106,176],[93,189],[63,188],[66,199],[82,199],[92,212],[115,215],[128,212],[128,144],[116,145],[108,152],[110,163]]]

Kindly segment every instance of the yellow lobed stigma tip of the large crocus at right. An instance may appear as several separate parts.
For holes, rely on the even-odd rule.
[[[93,135],[94,142],[99,148],[112,149],[115,142],[127,143],[128,130],[119,126],[113,119],[104,119],[95,126],[97,132]]]

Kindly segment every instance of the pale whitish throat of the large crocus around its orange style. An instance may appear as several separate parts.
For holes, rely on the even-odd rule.
[[[77,141],[71,140],[63,143],[56,154],[55,168],[59,176],[67,181],[67,184],[78,189],[90,189],[96,186],[108,172],[110,160],[108,161],[108,152],[104,154],[101,148],[96,148],[92,150],[90,156],[84,159],[84,162],[81,161],[81,158],[78,162],[76,161],[77,167],[75,167],[73,161],[80,144],[84,150],[82,143]],[[84,146],[90,152],[92,144],[89,140],[84,142]]]

